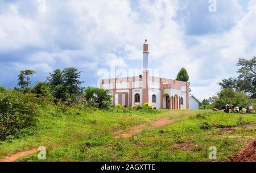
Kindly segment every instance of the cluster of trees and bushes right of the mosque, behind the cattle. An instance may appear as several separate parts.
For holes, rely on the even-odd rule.
[[[244,108],[256,106],[256,57],[249,60],[239,58],[237,66],[238,77],[222,79],[218,83],[221,90],[215,96],[202,100],[201,109],[221,109],[226,104]]]

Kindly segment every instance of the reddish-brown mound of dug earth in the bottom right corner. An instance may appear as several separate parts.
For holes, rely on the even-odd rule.
[[[233,155],[232,162],[255,162],[256,161],[256,141],[247,144],[241,151]]]

